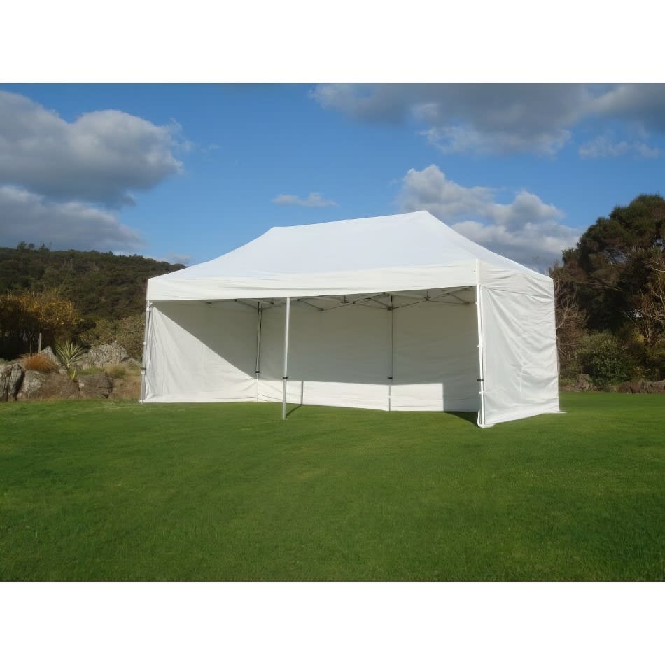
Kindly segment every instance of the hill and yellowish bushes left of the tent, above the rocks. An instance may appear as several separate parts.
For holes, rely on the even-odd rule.
[[[183,267],[139,255],[50,251],[25,242],[0,248],[0,356],[35,351],[41,332],[43,346],[57,337],[88,344],[118,339],[140,357],[146,282]]]

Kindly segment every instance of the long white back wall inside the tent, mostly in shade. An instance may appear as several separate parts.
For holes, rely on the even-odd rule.
[[[407,300],[402,301],[409,302]],[[284,307],[262,319],[258,399],[281,402]],[[291,306],[287,401],[297,404],[477,411],[475,305],[424,302],[393,312],[349,306]]]

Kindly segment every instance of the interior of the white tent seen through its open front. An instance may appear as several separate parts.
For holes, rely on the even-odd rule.
[[[291,300],[287,401],[477,411],[472,304],[472,287]],[[179,386],[169,401],[281,402],[285,316],[285,299],[160,303],[151,352],[174,349],[162,377]],[[183,337],[199,347],[186,357]]]

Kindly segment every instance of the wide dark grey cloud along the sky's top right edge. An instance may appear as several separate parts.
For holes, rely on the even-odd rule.
[[[415,120],[444,153],[552,156],[589,119],[665,132],[665,85],[319,85],[311,97],[363,122]]]

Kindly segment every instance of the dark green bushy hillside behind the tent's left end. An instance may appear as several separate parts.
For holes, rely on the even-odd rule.
[[[55,287],[88,321],[119,320],[144,310],[149,277],[183,267],[136,254],[50,251],[21,244],[0,248],[0,293]]]

